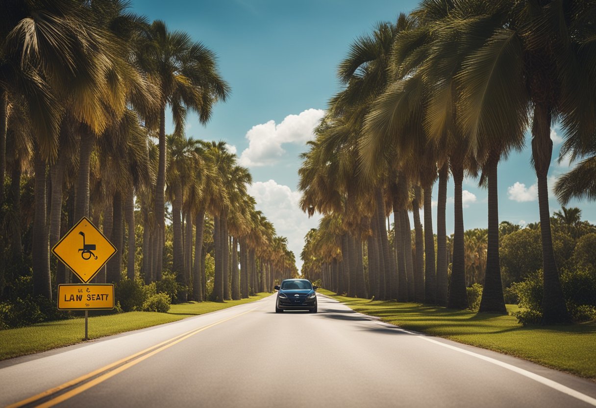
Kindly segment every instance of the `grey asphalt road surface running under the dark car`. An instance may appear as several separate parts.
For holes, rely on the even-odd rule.
[[[1,361],[0,406],[39,394],[32,406],[596,406],[595,382],[406,332],[321,295],[317,314],[275,314],[274,302]]]

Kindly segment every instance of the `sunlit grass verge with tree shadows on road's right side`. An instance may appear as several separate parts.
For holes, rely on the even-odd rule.
[[[319,293],[343,302],[383,322],[488,348],[526,360],[596,379],[596,321],[572,326],[523,327],[513,316],[476,314],[445,307],[347,298],[329,290]],[[507,305],[516,311],[517,305]]]

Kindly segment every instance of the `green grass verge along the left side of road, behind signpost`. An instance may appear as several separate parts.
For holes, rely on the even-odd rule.
[[[253,302],[269,295],[271,293],[257,293],[256,296],[250,296],[249,299],[227,302],[182,303],[172,305],[167,313],[128,312],[89,317],[89,338],[97,339],[157,324],[175,322],[185,317]],[[76,344],[82,342],[84,334],[85,319],[57,320],[18,329],[0,330],[0,360]]]

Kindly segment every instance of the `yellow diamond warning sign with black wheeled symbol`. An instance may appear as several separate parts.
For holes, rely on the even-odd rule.
[[[58,241],[52,252],[83,283],[87,283],[116,254],[116,247],[88,218],[83,217]]]

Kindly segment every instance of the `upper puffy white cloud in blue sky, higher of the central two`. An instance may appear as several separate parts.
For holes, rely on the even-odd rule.
[[[299,115],[286,116],[278,125],[275,120],[254,125],[246,132],[249,147],[244,149],[238,163],[252,167],[274,165],[285,153],[282,144],[303,144],[315,137],[314,129],[324,113],[321,109],[308,109]]]

